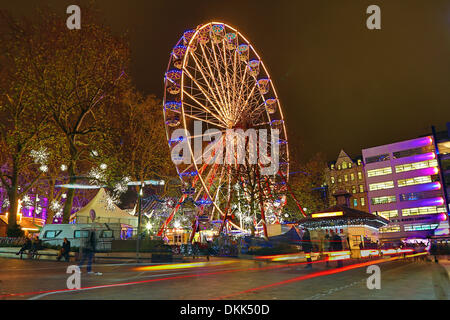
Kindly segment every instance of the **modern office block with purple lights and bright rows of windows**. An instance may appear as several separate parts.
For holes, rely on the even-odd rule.
[[[389,220],[381,239],[427,238],[448,220],[432,136],[362,150],[369,212]]]

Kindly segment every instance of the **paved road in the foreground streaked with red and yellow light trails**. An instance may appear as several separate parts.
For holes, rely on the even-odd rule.
[[[68,290],[71,263],[0,258],[0,299],[71,300],[321,300],[449,299],[448,261],[265,263],[205,258],[182,264],[95,264],[102,275],[81,273],[81,289]],[[367,266],[381,269],[381,289],[367,288]],[[447,269],[446,269],[447,268]]]

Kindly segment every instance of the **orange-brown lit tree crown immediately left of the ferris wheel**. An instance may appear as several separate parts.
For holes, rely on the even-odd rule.
[[[176,175],[160,100],[129,90],[109,118],[113,136],[110,153],[117,157],[118,172],[126,172],[134,181]]]

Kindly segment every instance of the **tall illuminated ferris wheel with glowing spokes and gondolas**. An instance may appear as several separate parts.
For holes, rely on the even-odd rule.
[[[183,196],[158,235],[169,227],[180,204],[188,198],[198,207],[197,220],[207,221],[210,227],[215,223],[220,231],[253,230],[267,235],[266,224],[279,222],[286,202],[289,151],[280,101],[260,56],[236,29],[210,22],[184,32],[172,50],[164,80],[164,121],[172,157],[174,148],[185,143],[189,154],[177,156],[190,161],[176,163]],[[176,134],[179,129],[184,130],[184,136]],[[265,129],[270,137],[276,129],[277,139],[267,138],[266,159],[258,156],[256,164],[238,162],[225,150],[220,153],[227,154],[231,161],[207,161],[206,152],[195,151],[194,140],[199,138],[201,150],[219,142],[225,148],[225,133],[230,129]],[[223,136],[213,139],[212,131]],[[234,150],[248,149],[245,141],[240,145],[234,141]],[[274,144],[278,169],[261,175],[262,163],[270,160]],[[217,156],[214,150],[209,149],[209,157]],[[195,232],[198,223],[193,226]]]

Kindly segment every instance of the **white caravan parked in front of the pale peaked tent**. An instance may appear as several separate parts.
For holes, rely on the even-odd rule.
[[[67,238],[71,247],[80,248],[94,230],[96,251],[111,251],[112,240],[121,238],[120,223],[46,224],[39,238],[49,245],[62,245],[64,238]]]

